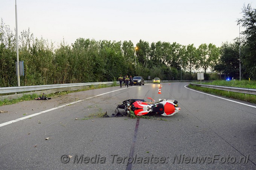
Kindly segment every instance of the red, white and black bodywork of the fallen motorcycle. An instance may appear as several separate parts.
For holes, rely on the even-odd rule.
[[[162,116],[172,116],[180,111],[180,108],[175,107],[175,104],[172,100],[165,99],[153,104],[136,101],[132,104],[131,110],[133,110],[134,114],[137,116],[142,116],[150,112],[161,114]]]

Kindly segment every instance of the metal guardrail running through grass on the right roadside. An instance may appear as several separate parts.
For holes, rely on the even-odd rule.
[[[190,83],[190,84],[192,86],[199,86],[199,87],[206,87],[206,88],[210,88],[210,89],[218,89],[218,90],[225,90],[225,91],[229,91],[229,92],[237,92],[237,93],[256,95],[256,89],[241,88],[241,87],[227,87],[227,86],[213,86],[213,85],[194,84],[194,83]]]

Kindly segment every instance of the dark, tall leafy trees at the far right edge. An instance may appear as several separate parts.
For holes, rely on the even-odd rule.
[[[241,64],[241,78],[256,79],[256,8],[244,5],[242,18],[237,24],[245,30],[241,32],[241,39],[236,38],[233,43],[224,43],[220,48],[220,58],[213,70],[223,72],[230,77],[239,77]]]

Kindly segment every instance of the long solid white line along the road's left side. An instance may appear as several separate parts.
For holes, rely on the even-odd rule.
[[[98,97],[98,96],[102,96],[102,95],[105,95],[105,94],[108,94],[108,93],[112,93],[112,92],[116,92],[116,91],[123,90],[123,89],[126,89],[126,88],[114,90],[114,91],[107,92],[107,93],[102,93],[102,94],[99,94],[99,95],[96,95],[96,96],[92,96],[92,97],[86,98],[86,99],[84,99],[84,100],[91,99],[91,98],[95,98],[95,97]],[[18,121],[20,121],[20,120],[27,119],[27,118],[29,118],[29,117],[37,116],[37,115],[39,115],[39,114],[46,113],[46,112],[48,112],[48,111],[52,111],[52,110],[55,110],[55,109],[58,109],[58,108],[62,108],[62,107],[65,107],[65,106],[68,106],[68,105],[71,105],[71,104],[75,104],[75,103],[78,103],[78,102],[81,102],[81,101],[84,101],[84,100],[78,100],[78,101],[71,102],[71,103],[68,103],[68,104],[64,104],[64,105],[61,105],[61,106],[58,106],[58,107],[50,108],[50,109],[48,109],[48,110],[40,111],[40,112],[38,112],[38,113],[34,113],[34,114],[31,114],[31,115],[28,115],[28,116],[24,116],[24,117],[21,117],[21,118],[19,118],[19,119],[11,120],[11,121],[9,121],[9,122],[1,123],[1,124],[0,124],[0,127],[1,127],[1,126],[5,126],[5,125],[9,125],[9,124],[14,123],[14,122],[18,122]]]

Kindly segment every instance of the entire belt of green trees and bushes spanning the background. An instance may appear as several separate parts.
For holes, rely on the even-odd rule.
[[[241,43],[243,76],[256,77],[255,9],[244,6],[244,17],[238,22],[245,27]],[[254,20],[253,20],[254,19]],[[162,80],[195,79],[194,71],[215,70],[237,78],[239,76],[239,39],[234,43],[181,45],[176,42],[95,41],[78,38],[73,44],[63,42],[54,47],[30,30],[19,36],[19,57],[24,61],[21,86],[61,83],[115,81],[122,75],[140,75]],[[137,48],[135,48],[135,46]],[[0,86],[17,86],[15,75],[16,36],[0,24]],[[252,62],[254,61],[254,62]]]

